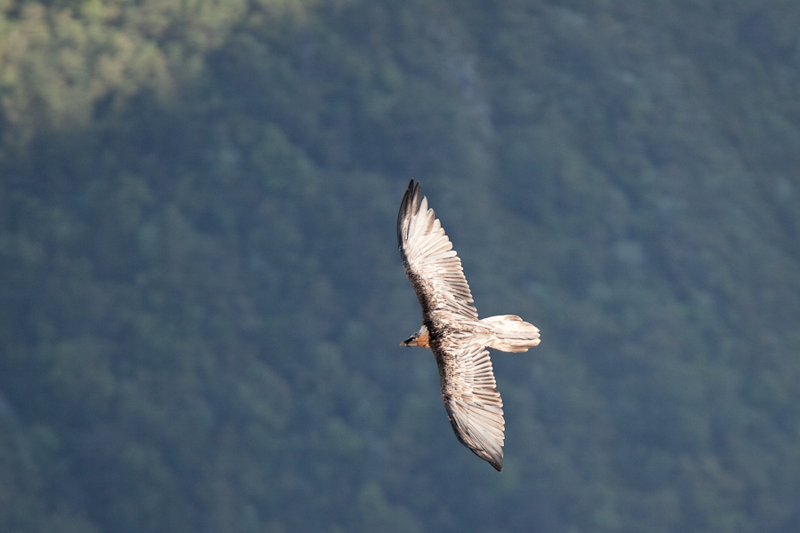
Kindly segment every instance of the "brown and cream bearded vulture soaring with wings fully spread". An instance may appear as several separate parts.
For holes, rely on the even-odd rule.
[[[505,420],[489,351],[527,352],[539,328],[514,314],[478,319],[467,278],[420,183],[412,179],[397,215],[400,257],[422,307],[422,326],[400,346],[429,347],[436,357],[444,409],[459,441],[498,472]]]

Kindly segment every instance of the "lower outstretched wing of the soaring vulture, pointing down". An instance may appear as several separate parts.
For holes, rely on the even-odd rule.
[[[495,388],[489,352],[475,339],[457,356],[442,355],[437,357],[442,398],[452,430],[476,456],[502,470],[503,401]]]

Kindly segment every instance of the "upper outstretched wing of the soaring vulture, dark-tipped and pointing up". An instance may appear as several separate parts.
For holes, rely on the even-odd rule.
[[[449,311],[477,320],[461,260],[436,214],[428,209],[428,198],[422,196],[420,202],[420,184],[414,186],[413,179],[397,215],[397,240],[405,274],[420,298],[422,313]]]

